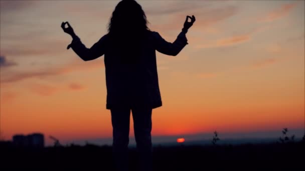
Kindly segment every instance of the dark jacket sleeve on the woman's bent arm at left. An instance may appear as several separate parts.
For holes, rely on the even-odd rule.
[[[78,36],[75,36],[68,45],[68,48],[72,47],[74,52],[83,60],[93,60],[105,53],[105,35],[102,36],[92,47],[87,48],[80,40]]]

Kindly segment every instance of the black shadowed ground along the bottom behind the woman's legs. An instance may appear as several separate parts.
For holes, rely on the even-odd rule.
[[[154,147],[154,170],[305,170],[305,143]],[[0,147],[0,170],[113,170],[111,146]],[[130,149],[130,170],[136,170]]]

